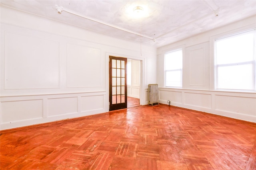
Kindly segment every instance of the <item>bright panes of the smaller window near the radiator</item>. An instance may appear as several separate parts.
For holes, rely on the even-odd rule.
[[[182,87],[182,49],[166,53],[164,59],[165,86]]]

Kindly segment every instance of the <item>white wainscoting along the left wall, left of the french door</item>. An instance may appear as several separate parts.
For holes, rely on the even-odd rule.
[[[106,92],[5,96],[0,99],[1,130],[106,111]]]

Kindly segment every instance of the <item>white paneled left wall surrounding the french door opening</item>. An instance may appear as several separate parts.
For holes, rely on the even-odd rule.
[[[156,48],[4,6],[0,19],[1,130],[108,111],[109,55],[142,61],[146,104]]]

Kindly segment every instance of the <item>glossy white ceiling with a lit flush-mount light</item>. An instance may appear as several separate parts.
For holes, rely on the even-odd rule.
[[[1,4],[155,47],[256,15],[255,0],[1,0]],[[144,16],[134,15],[136,6],[143,8]],[[61,7],[61,14],[56,7]]]

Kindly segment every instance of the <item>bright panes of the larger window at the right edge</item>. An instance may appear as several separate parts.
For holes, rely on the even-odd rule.
[[[215,87],[255,90],[255,29],[215,39]]]

